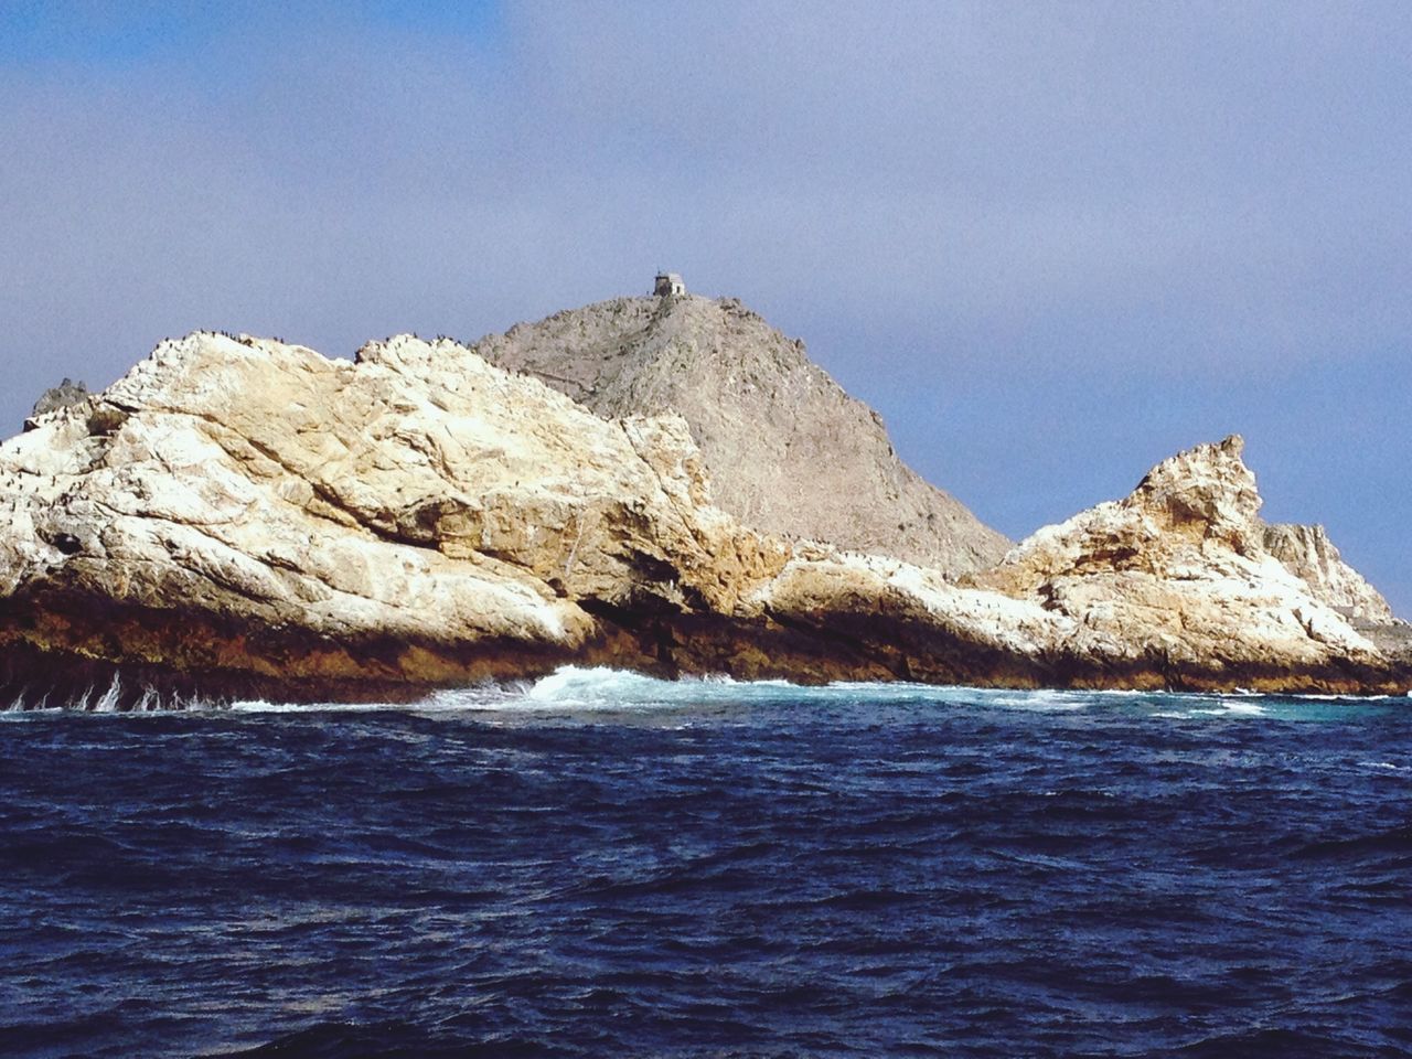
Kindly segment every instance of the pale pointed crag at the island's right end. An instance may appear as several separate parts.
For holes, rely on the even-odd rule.
[[[1127,498],[1041,530],[973,583],[1082,621],[1114,664],[1155,672],[1267,688],[1279,671],[1380,665],[1323,586],[1267,551],[1243,448],[1231,436],[1165,460]]]

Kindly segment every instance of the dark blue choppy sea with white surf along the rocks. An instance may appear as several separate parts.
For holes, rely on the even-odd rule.
[[[0,1053],[1412,1053],[1412,702],[0,719]]]

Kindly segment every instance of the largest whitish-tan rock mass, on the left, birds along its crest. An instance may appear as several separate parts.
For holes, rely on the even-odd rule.
[[[513,674],[594,635],[570,597],[731,607],[771,552],[695,459],[450,343],[193,335],[0,449],[0,642],[311,695]]]

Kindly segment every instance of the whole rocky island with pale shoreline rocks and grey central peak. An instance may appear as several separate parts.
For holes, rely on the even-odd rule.
[[[731,299],[354,361],[199,332],[0,446],[0,703],[658,675],[1405,693],[1408,627],[1240,438],[1011,544]]]

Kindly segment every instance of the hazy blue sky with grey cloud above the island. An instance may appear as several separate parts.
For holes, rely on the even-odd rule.
[[[1412,617],[1412,4],[0,0],[0,425],[741,298],[1019,538],[1238,432]]]

